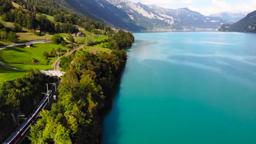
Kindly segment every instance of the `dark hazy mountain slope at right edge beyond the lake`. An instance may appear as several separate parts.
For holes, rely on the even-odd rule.
[[[223,32],[256,32],[256,10],[249,13],[240,21],[232,25],[223,25],[219,31]]]

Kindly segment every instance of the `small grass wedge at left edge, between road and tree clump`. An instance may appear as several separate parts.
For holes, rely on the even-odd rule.
[[[8,80],[14,80],[24,75],[25,72],[0,66],[0,83]]]

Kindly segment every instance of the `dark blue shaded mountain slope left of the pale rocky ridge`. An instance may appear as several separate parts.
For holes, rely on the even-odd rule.
[[[105,0],[65,0],[69,5],[90,19],[108,23],[112,26],[140,31],[141,26],[135,25],[125,11],[120,10]]]

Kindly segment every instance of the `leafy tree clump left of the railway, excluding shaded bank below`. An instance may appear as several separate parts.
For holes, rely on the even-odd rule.
[[[19,111],[25,115],[30,114],[36,106],[34,101],[42,97],[39,89],[44,86],[43,82],[44,75],[32,69],[24,77],[3,82],[0,85],[0,117]]]

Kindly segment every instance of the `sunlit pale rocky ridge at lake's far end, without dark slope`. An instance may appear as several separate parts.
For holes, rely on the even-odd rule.
[[[153,31],[212,30],[227,23],[218,17],[204,16],[188,8],[174,10],[128,0],[107,1],[124,10],[136,25]]]

